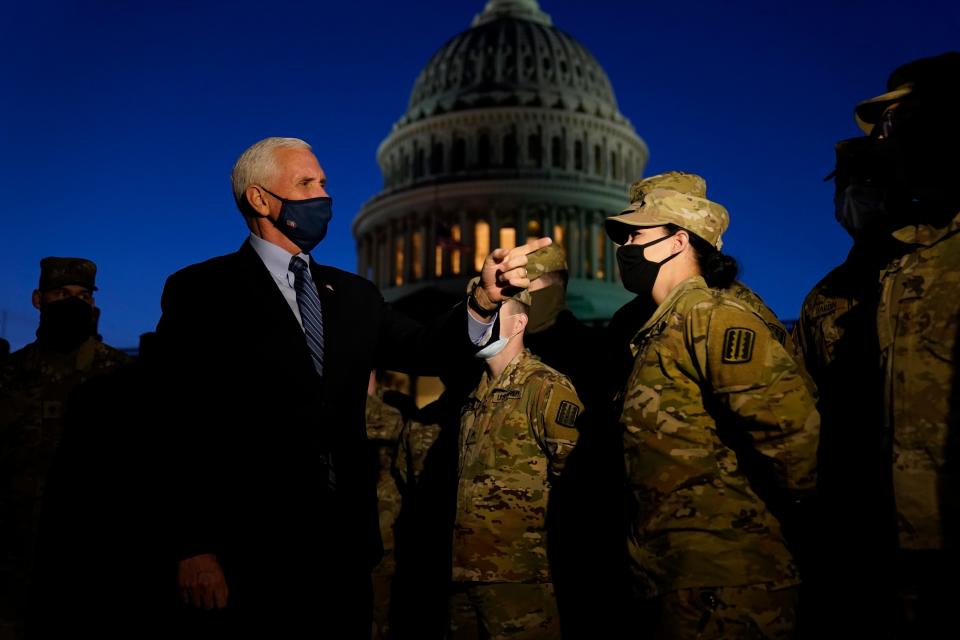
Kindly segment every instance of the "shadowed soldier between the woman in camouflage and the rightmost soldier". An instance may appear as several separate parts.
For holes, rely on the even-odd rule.
[[[811,548],[804,558],[804,619],[815,636],[883,636],[893,610],[896,521],[890,453],[882,433],[878,277],[907,245],[896,240],[877,174],[874,137],[836,145],[835,217],[853,239],[843,264],[807,295],[792,348],[815,382],[821,416]],[[851,583],[859,588],[850,589]]]

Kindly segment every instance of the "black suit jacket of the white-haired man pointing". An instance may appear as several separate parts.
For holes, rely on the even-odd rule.
[[[175,273],[164,288],[157,335],[172,553],[216,553],[233,585],[372,567],[381,547],[364,425],[369,373],[440,373],[442,361],[456,366],[475,351],[464,305],[428,328],[392,311],[367,280],[311,262],[323,307],[322,380],[249,242]],[[281,557],[296,566],[277,566]]]

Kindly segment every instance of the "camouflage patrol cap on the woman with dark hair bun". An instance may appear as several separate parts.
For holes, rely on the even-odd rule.
[[[653,189],[643,200],[632,204],[618,216],[606,220],[607,235],[617,244],[624,244],[637,227],[660,227],[675,224],[700,236],[719,251],[721,236],[730,225],[730,215],[720,204],[671,189]]]

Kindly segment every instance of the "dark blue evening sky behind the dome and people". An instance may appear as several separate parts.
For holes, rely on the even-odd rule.
[[[485,0],[7,3],[0,42],[0,310],[33,338],[40,258],[99,266],[107,342],[133,346],[164,279],[235,250],[236,157],[307,139],[335,216],[317,259],[353,270],[350,222],[381,186],[377,145],[430,55]],[[650,147],[647,174],[701,173],[725,249],[784,317],[841,261],[836,140],[897,65],[960,48],[960,3],[542,0],[607,70]],[[215,286],[215,283],[211,283]]]

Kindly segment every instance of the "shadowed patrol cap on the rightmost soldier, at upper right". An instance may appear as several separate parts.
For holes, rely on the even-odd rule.
[[[920,58],[897,67],[887,80],[887,92],[864,100],[854,109],[857,126],[870,134],[884,110],[909,95],[928,94],[955,100],[960,93],[960,52]],[[956,106],[956,105],[953,105]]]

